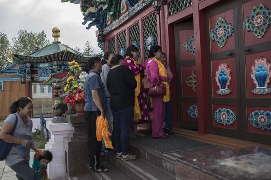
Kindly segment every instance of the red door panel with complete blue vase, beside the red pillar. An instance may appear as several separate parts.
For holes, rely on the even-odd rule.
[[[206,12],[211,133],[241,135],[237,5],[226,2]]]

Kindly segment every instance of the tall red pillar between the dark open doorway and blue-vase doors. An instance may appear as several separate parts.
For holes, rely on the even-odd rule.
[[[198,129],[199,134],[210,133],[209,82],[205,12],[199,11],[199,0],[193,0],[193,24],[197,75]]]

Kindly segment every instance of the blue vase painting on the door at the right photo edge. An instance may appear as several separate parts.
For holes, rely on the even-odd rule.
[[[268,94],[271,92],[268,87],[271,80],[271,64],[265,57],[261,56],[255,60],[250,75],[256,85],[256,88],[252,90],[254,94]]]

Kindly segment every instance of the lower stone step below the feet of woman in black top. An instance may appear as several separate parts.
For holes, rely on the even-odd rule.
[[[175,180],[175,176],[142,158],[122,161],[115,156],[108,156],[107,161],[131,180]]]

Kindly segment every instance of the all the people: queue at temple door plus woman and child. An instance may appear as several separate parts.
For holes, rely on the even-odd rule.
[[[98,57],[91,57],[87,61],[90,71],[85,80],[84,115],[92,172],[109,171],[100,163],[101,150],[101,154],[105,155],[116,153],[116,158],[122,161],[137,158],[129,152],[129,139],[144,137],[144,134],[137,132],[137,122],[151,120],[143,83],[145,72],[150,84],[163,83],[166,87],[165,95],[152,96],[152,137],[165,139],[173,134],[170,130],[170,82],[173,75],[166,64],[166,55],[158,45],[150,48],[149,57],[145,61],[138,60],[138,53],[139,49],[131,45],[126,49],[125,57],[106,52],[103,64]],[[1,144],[0,159],[4,159],[6,165],[16,172],[18,180],[49,180],[46,169],[53,156],[50,151],[39,150],[32,142],[32,109],[33,102],[29,97],[21,97],[11,104],[10,115],[0,130],[0,139],[1,143],[12,146],[3,155],[5,150],[2,147],[6,146]],[[164,112],[166,121],[163,128]],[[106,148],[104,142],[97,140],[98,116],[108,120],[113,149]],[[30,149],[35,151],[32,168],[29,166]]]

